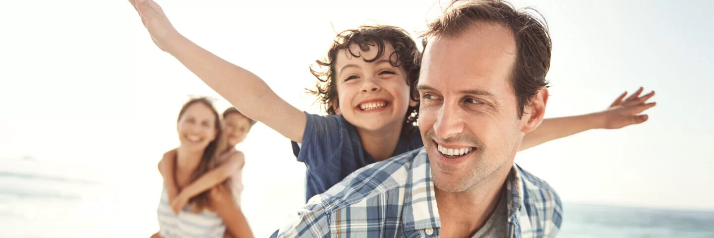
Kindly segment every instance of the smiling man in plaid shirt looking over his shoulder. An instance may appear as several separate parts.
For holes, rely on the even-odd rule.
[[[548,101],[545,25],[501,1],[459,2],[424,39],[425,147],[313,197],[279,237],[555,237],[558,194],[513,164]]]

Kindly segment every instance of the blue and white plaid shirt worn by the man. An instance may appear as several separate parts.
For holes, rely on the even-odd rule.
[[[563,215],[558,194],[516,164],[506,183],[508,237],[555,237]],[[298,215],[278,237],[438,237],[426,150],[357,170],[310,199]]]

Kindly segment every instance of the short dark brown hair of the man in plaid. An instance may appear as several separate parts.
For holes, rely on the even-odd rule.
[[[533,14],[531,13],[533,12]],[[536,17],[535,15],[540,16]],[[453,1],[446,12],[428,26],[423,46],[431,36],[458,36],[476,21],[508,26],[516,40],[516,63],[511,73],[511,86],[518,99],[518,117],[538,90],[548,86],[545,74],[550,68],[552,42],[543,15],[531,8],[516,10],[506,1]]]

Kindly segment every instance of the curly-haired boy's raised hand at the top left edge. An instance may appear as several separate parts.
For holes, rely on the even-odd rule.
[[[162,51],[166,51],[166,41],[179,34],[164,14],[164,10],[161,10],[161,6],[153,0],[129,0],[129,3],[141,17],[141,23],[149,31],[154,44]]]

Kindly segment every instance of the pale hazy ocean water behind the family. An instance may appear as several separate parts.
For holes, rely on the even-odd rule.
[[[0,237],[149,237],[158,229],[160,184],[129,184],[0,169]],[[714,211],[564,206],[558,237],[714,237]],[[278,225],[251,222],[258,237]]]

